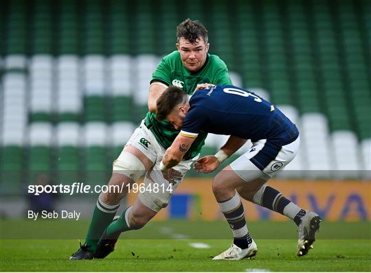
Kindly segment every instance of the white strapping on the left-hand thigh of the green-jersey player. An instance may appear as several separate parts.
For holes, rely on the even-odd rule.
[[[123,174],[134,182],[146,173],[146,167],[137,156],[122,151],[119,158],[113,161],[113,173]]]

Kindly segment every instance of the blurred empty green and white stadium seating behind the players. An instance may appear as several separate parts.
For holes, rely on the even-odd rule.
[[[234,84],[270,99],[300,128],[300,152],[282,177],[371,176],[370,1],[0,5],[0,169],[14,180],[33,171],[106,180],[148,110],[153,70],[188,17],[208,28],[210,53],[225,60]],[[202,155],[224,141],[210,135]]]

